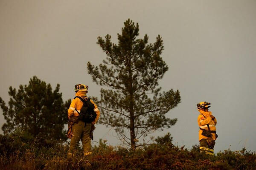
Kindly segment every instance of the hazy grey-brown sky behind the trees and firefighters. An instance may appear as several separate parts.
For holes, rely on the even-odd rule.
[[[207,101],[218,121],[215,153],[256,151],[256,0],[0,0],[0,96],[8,103],[9,86],[18,89],[37,76],[53,88],[59,83],[64,101],[77,83],[100,97],[86,63],[102,63],[97,37],[110,34],[117,42],[128,18],[149,42],[163,37],[169,71],[160,86],[181,95],[167,114],[176,125],[152,135],[170,132],[174,144],[191,149],[199,143],[196,104]],[[94,136],[120,143],[104,125]]]

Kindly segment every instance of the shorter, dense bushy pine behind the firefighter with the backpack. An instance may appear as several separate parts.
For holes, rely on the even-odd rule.
[[[8,107],[2,98],[0,106],[6,123],[4,134],[12,133],[16,128],[26,130],[32,136],[48,139],[66,139],[64,124],[67,123],[67,108],[70,101],[63,103],[60,85],[54,91],[50,84],[33,77],[29,85],[20,85],[16,91],[9,87],[11,96]]]

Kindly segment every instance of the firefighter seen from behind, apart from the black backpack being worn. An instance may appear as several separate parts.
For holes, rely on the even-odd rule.
[[[84,156],[88,156],[92,154],[91,151],[91,143],[90,143],[90,131],[91,128],[94,130],[94,124],[99,119],[99,109],[97,105],[90,99],[90,102],[94,105],[94,111],[96,112],[96,118],[91,123],[85,123],[81,119],[79,119],[79,113],[81,112],[81,108],[83,107],[84,103],[79,99],[81,97],[82,99],[89,99],[86,94],[88,93],[88,86],[77,84],[75,85],[75,92],[76,97],[72,100],[70,104],[70,108],[68,109],[68,119],[69,119],[69,129],[67,137],[69,137],[70,140],[70,149],[68,151],[68,156],[73,156],[73,153],[75,151],[76,146],[79,144],[79,141],[81,139],[83,150],[84,150]]]

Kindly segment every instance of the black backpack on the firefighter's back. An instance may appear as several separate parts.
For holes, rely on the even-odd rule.
[[[90,102],[90,98],[88,97],[87,100],[83,99],[82,97],[80,96],[76,96],[77,98],[79,98],[83,103],[84,105],[82,106],[81,108],[81,111],[80,113],[77,111],[77,113],[79,113],[79,116],[78,118],[85,122],[85,123],[91,123],[95,120],[97,114],[96,112],[94,111],[94,105],[92,102]],[[74,99],[76,99],[76,97]]]

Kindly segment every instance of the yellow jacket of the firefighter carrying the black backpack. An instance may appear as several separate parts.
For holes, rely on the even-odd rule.
[[[86,91],[78,91],[76,93],[76,96],[80,96],[84,99],[87,99],[87,96],[86,96]],[[99,115],[100,115],[100,112],[99,112],[99,109],[97,107],[97,105],[90,99],[90,101],[93,103],[94,105],[94,111],[96,112],[97,116],[96,116],[96,119],[92,122],[93,124],[96,124],[96,122],[98,121],[99,119]],[[80,113],[80,110],[83,106],[83,102],[79,99],[79,98],[76,98],[76,99],[73,99],[71,104],[70,104],[70,108],[68,109],[68,119],[70,119],[70,117],[72,115],[74,116],[79,116],[79,113]],[[77,111],[79,113],[77,113]]]

